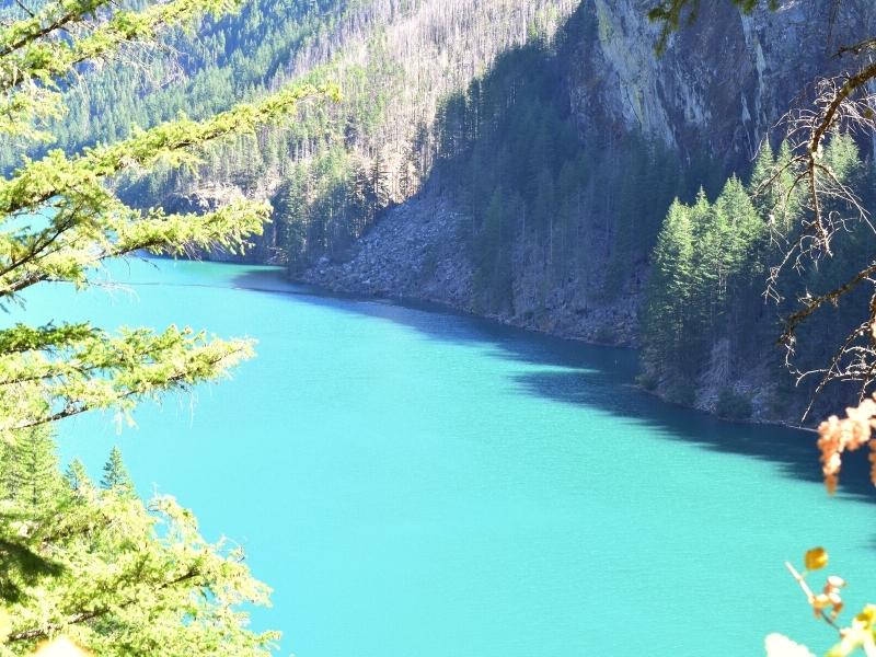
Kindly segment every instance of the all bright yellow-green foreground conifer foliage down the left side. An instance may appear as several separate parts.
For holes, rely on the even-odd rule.
[[[338,100],[332,84],[287,87],[199,120],[181,114],[70,152],[25,154],[46,137],[46,122],[62,116],[70,76],[110,57],[126,60],[126,48],[161,30],[237,8],[233,0],[141,9],[53,0],[34,14],[4,11],[0,135],[15,150],[4,150],[14,170],[0,178],[0,307],[20,315],[21,293],[46,281],[88,288],[111,258],[240,251],[262,230],[266,204],[169,215],[135,209],[115,189],[122,176],[192,166],[218,139],[288,125],[302,101]],[[12,620],[0,655],[30,654],[58,633],[100,655],[268,653],[276,635],[250,631],[241,611],[266,604],[268,590],[239,551],[206,542],[170,497],[143,505],[118,450],[97,487],[79,461],[60,474],[53,441],[59,420],[94,408],[132,423],[140,401],[224,376],[252,347],[177,326],[108,331],[59,320],[0,330],[0,615]]]

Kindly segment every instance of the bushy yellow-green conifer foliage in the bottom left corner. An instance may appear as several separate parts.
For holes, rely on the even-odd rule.
[[[238,610],[266,603],[267,587],[172,497],[134,495],[117,449],[100,488],[78,461],[59,475],[45,428],[0,443],[0,459],[16,482],[0,499],[0,589],[15,591],[0,655],[61,633],[106,656],[269,654],[276,633],[251,632]]]

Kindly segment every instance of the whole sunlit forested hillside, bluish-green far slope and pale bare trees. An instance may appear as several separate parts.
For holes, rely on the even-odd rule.
[[[67,150],[127,134],[178,112],[199,117],[284,82],[332,80],[335,107],[281,129],[210,149],[195,170],[119,182],[140,204],[210,207],[240,195],[270,199],[274,221],[251,253],[299,270],[344,251],[384,208],[413,195],[442,148],[448,96],[495,57],[550,41],[573,0],[266,0],[181,34],[141,67],[107,67],[70,89],[72,111],[51,127]],[[185,55],[180,55],[185,53]],[[89,136],[88,138],[85,136]],[[14,148],[14,147],[13,147]],[[0,158],[14,164],[13,148]],[[219,254],[214,254],[218,256]]]

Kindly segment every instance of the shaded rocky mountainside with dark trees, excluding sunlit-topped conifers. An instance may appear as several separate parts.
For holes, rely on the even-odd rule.
[[[715,198],[730,173],[747,176],[761,142],[770,136],[776,143],[771,128],[806,85],[839,69],[828,54],[876,27],[876,9],[866,2],[843,3],[831,27],[832,5],[785,2],[742,16],[729,3],[707,3],[696,26],[675,35],[658,58],[648,3],[583,3],[554,43],[506,58],[514,66],[499,62],[460,94],[462,123],[483,127],[459,152],[439,158],[417,197],[387,212],[346,257],[324,256],[302,277],[637,345],[649,255],[672,197],[692,201],[703,186]],[[532,113],[538,103],[521,93],[527,71],[554,84],[535,92],[541,110],[558,116],[553,139],[532,127],[543,112]],[[487,112],[472,100],[484,88],[503,99],[487,101]],[[515,153],[503,152],[504,130],[525,134]],[[530,164],[520,175],[516,158]],[[484,169],[500,173],[483,180]],[[496,194],[503,219],[491,223]],[[540,219],[543,205],[550,216]],[[488,253],[484,241],[504,254]],[[714,411],[727,389],[750,401],[756,417],[798,418],[799,406],[776,403],[787,374],[773,328],[753,353],[716,337],[713,362],[698,373],[691,396],[678,401]],[[672,396],[671,382],[656,384]]]

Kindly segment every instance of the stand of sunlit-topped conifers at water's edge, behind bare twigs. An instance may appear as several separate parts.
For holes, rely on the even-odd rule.
[[[797,299],[852,279],[876,246],[873,232],[855,226],[854,208],[829,198],[826,211],[848,222],[848,239],[832,257],[785,276],[776,287],[768,285],[771,268],[797,239],[804,212],[794,174],[782,169],[789,160],[786,142],[775,154],[765,142],[747,185],[731,177],[712,203],[701,192],[694,203],[676,200],[669,208],[642,312],[641,380],[646,388],[684,404],[708,388],[716,394],[715,410],[729,417],[749,417],[756,396],[764,405],[762,415],[802,414],[823,374],[820,368],[864,320],[868,300],[858,290],[845,303],[814,314],[796,336],[793,353],[776,348],[781,320],[797,310]],[[874,169],[862,160],[852,137],[834,135],[823,162],[865,207],[876,207]],[[795,378],[784,372],[786,355],[796,376],[811,372],[796,391]],[[735,390],[727,383],[733,381],[748,388]],[[856,388],[830,392],[818,400],[822,413],[848,403]]]

